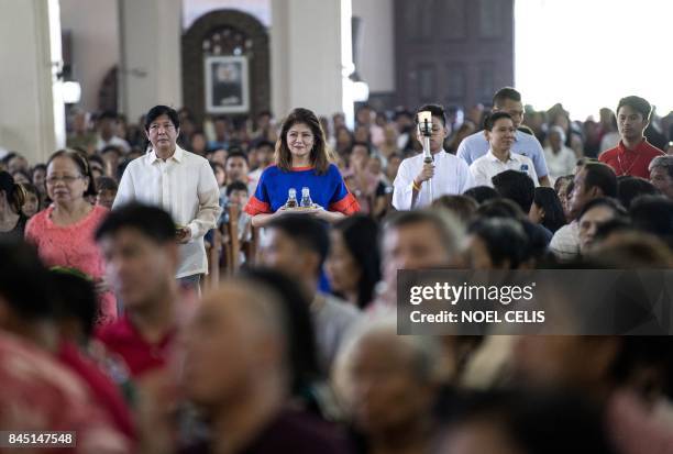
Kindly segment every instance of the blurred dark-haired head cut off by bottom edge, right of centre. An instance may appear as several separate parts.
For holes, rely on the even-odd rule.
[[[470,452],[616,454],[600,408],[576,394],[470,391],[452,403],[437,452],[454,452],[470,440]]]

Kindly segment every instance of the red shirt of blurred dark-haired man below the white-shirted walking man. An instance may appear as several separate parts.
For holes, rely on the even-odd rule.
[[[177,330],[169,330],[159,342],[152,344],[139,332],[129,314],[108,325],[100,326],[96,337],[106,345],[110,352],[120,355],[131,372],[133,378],[140,375],[164,368],[176,337]]]

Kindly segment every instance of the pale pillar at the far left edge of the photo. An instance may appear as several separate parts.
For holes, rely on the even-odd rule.
[[[65,139],[63,102],[54,102],[57,67],[52,65],[60,60],[60,38],[53,49],[49,37],[60,33],[58,18],[49,18],[58,14],[58,2],[0,0],[0,146],[31,164],[44,163]]]

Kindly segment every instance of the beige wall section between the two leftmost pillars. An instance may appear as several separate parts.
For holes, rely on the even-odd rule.
[[[79,106],[96,111],[102,79],[120,60],[118,0],[60,0],[60,26],[71,32],[73,77],[81,84]]]

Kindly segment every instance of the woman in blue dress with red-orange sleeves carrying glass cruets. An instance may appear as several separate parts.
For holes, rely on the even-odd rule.
[[[254,226],[264,226],[288,212],[306,213],[331,223],[360,210],[338,167],[330,163],[324,132],[310,110],[298,108],[289,113],[276,143],[275,160],[262,173],[257,189],[245,206]],[[304,188],[310,190],[312,207],[286,207],[290,190],[295,190],[299,202]]]

